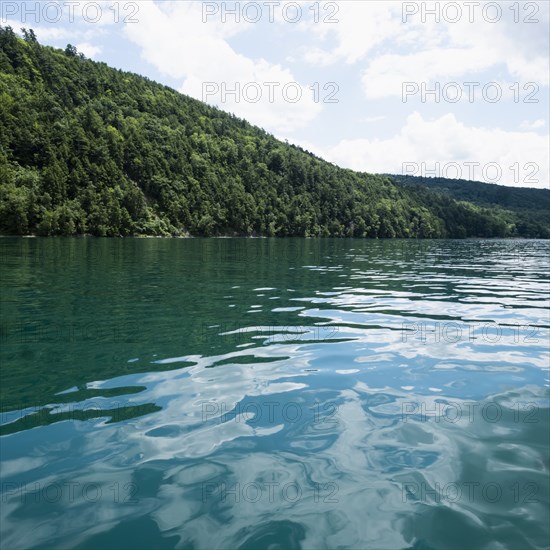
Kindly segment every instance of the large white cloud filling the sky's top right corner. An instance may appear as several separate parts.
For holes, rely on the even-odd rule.
[[[486,2],[478,3],[474,21],[463,9],[458,22],[433,16],[422,22],[420,14],[402,21],[403,2],[339,2],[336,25],[310,23],[309,32],[321,44],[305,48],[304,60],[328,66],[338,62],[363,63],[363,87],[368,98],[399,96],[403,81],[434,82],[471,80],[489,69],[507,74],[499,80],[536,82],[548,86],[548,4],[537,2],[538,23],[515,23],[514,12],[506,2],[500,21],[490,23],[483,14]],[[435,2],[406,4],[426,5]],[[456,2],[440,2],[445,6]],[[535,5],[535,3],[531,3]],[[493,8],[494,9],[494,8]],[[521,20],[529,10],[520,10]],[[492,11],[487,12],[492,17]],[[451,16],[451,15],[450,15]],[[330,42],[335,42],[335,45]],[[330,42],[330,46],[323,43]]]

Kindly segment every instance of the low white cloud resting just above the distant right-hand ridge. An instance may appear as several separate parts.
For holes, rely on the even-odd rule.
[[[548,150],[548,136],[468,127],[453,114],[425,120],[415,112],[401,131],[389,139],[342,140],[334,147],[317,148],[315,152],[341,166],[366,172],[401,174],[403,163],[416,163],[420,172],[422,163],[425,170],[436,170],[439,163],[441,177],[461,176],[502,185],[545,188],[550,181]],[[466,164],[471,162],[479,165]],[[460,172],[450,163],[457,163]],[[495,181],[498,171],[491,163],[500,167],[499,181]],[[516,163],[516,168],[511,168]],[[474,177],[470,178],[470,174]]]

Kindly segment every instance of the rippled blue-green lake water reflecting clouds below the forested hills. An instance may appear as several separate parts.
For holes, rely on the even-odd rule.
[[[548,548],[549,253],[0,239],[2,548]]]

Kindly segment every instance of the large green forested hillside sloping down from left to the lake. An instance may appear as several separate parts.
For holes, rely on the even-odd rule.
[[[0,233],[548,237],[0,27]]]

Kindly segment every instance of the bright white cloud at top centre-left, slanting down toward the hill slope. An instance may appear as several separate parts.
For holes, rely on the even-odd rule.
[[[141,48],[144,59],[161,72],[184,79],[181,92],[203,100],[207,98],[204,90],[218,90],[208,96],[209,103],[270,131],[291,132],[319,114],[321,105],[314,102],[307,86],[294,86],[297,78],[288,69],[239,54],[229,45],[227,39],[248,26],[231,20],[202,23],[202,17],[200,2],[141,2],[140,23],[126,26],[125,32]],[[272,97],[264,84],[270,82],[277,83]],[[239,95],[223,94],[224,89],[229,92],[236,87]],[[260,99],[253,102],[258,91]],[[298,93],[301,99],[293,102]]]

